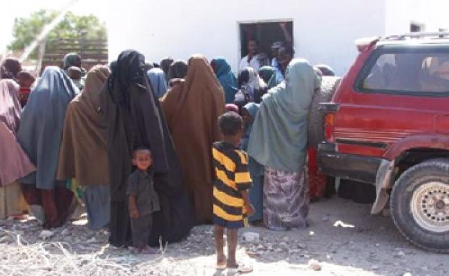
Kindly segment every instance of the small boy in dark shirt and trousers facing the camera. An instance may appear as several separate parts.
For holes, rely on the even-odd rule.
[[[160,210],[159,197],[153,185],[153,172],[149,170],[153,164],[151,151],[148,148],[137,148],[133,152],[133,164],[137,166],[128,177],[128,209],[131,215],[131,231],[133,245],[139,253],[153,254],[148,246],[148,239],[153,224],[152,213]]]

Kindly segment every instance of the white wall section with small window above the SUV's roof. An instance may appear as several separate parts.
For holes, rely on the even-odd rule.
[[[449,30],[449,0],[386,0],[385,34],[410,32],[410,23],[424,25],[425,32]]]

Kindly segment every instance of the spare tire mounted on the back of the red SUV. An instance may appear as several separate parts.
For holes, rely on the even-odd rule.
[[[325,113],[319,110],[320,103],[332,99],[341,77],[323,77],[321,89],[317,90],[312,98],[307,126],[307,146],[317,148],[324,141],[324,119]]]

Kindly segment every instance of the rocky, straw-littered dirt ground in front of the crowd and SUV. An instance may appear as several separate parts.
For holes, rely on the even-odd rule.
[[[250,275],[449,273],[448,255],[409,244],[391,217],[370,215],[369,205],[322,199],[312,204],[309,222],[307,230],[241,230],[240,262],[254,267]],[[0,275],[231,275],[215,270],[211,226],[198,226],[184,242],[142,256],[108,246],[106,230],[93,232],[85,224],[81,219],[47,233],[34,219],[0,221]],[[245,241],[246,232],[259,239]]]

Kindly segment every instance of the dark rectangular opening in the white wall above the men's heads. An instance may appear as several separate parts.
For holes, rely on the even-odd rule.
[[[280,27],[285,23],[285,31]],[[293,46],[293,21],[271,21],[256,23],[240,23],[240,52],[241,57],[248,53],[249,39],[256,39],[259,43],[258,51],[271,57],[271,44],[275,41],[283,41]]]

